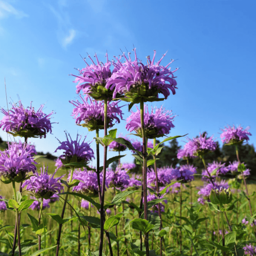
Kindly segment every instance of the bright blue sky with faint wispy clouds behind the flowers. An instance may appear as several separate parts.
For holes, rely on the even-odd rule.
[[[104,62],[106,51],[112,59],[134,44],[142,61],[153,50],[156,59],[168,50],[161,63],[174,59],[172,70],[180,68],[176,94],[156,104],[178,115],[171,136],[192,138],[207,131],[220,140],[220,128],[241,124],[251,126],[249,142],[255,145],[255,6],[239,0],[0,0],[0,107],[7,104],[5,77],[8,103],[19,95],[24,106],[33,101],[38,109],[44,103],[45,113],[56,112],[52,134],[30,140],[37,151],[53,153],[59,146],[55,137],[64,140],[65,130],[72,138],[78,132],[92,141],[95,133],[70,116],[76,84],[68,75],[84,67],[80,54],[96,52]],[[126,119],[126,106],[123,112]],[[128,133],[125,121],[113,128]],[[0,136],[7,140],[4,131]],[[122,161],[132,162],[126,153]]]

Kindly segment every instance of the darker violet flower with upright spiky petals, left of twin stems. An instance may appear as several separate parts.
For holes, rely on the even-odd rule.
[[[68,136],[70,138],[70,141],[68,140]],[[64,150],[63,155],[60,156],[60,159],[61,158],[65,159],[62,161],[63,164],[65,161],[66,161],[65,164],[70,163],[70,161],[85,163],[87,161],[92,160],[92,158],[94,158],[94,153],[92,151],[92,148],[90,148],[88,143],[84,142],[86,137],[81,142],[81,144],[80,144],[80,140],[82,136],[80,136],[80,139],[78,140],[78,134],[76,135],[76,140],[72,140],[70,137],[70,134],[67,135],[67,133],[66,133],[66,137],[67,137],[66,141],[60,142],[59,140],[61,145],[54,151],[56,152],[58,149]]]

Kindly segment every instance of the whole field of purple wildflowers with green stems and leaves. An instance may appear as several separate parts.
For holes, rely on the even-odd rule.
[[[97,55],[95,62],[88,56],[92,64],[84,60],[86,67],[72,75],[78,94],[70,101],[75,123],[95,131],[96,152],[86,137],[77,134],[72,139],[66,132],[67,140],[59,141],[55,151],[62,152],[56,170],[36,167],[40,156],[29,143],[31,137],[45,138],[52,132],[53,112],[44,114],[43,105],[37,111],[32,105],[25,108],[21,101],[1,109],[0,128],[24,138],[24,143],[14,140],[0,151],[1,188],[12,189],[0,196],[0,255],[256,255],[255,192],[247,184],[250,170],[238,151],[252,135],[249,127],[222,130],[222,142],[235,145],[233,163],[216,159],[206,165],[205,154],[217,144],[213,136],[200,133],[187,138],[177,154],[187,164],[157,168],[160,145],[185,135],[167,137],[174,127],[172,111],[150,111],[145,103],[176,93],[176,70],[169,68],[172,61],[160,64],[165,54],[154,62],[155,52],[145,65],[136,49],[134,54],[134,60],[124,53],[115,61],[106,55],[105,64]],[[116,136],[113,129],[123,119],[121,101],[128,102],[129,110],[137,104],[125,127],[136,140]],[[108,159],[108,150],[118,155]],[[121,164],[125,150],[132,150],[139,174],[132,173],[135,164]],[[203,170],[189,164],[196,157]],[[93,158],[97,164],[89,166]],[[115,161],[117,167],[110,168]]]

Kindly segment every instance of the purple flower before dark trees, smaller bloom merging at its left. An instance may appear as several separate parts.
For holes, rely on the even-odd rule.
[[[215,141],[213,141],[213,135],[210,138],[206,138],[207,133],[201,134],[198,138],[193,138],[192,140],[187,138],[188,143],[185,144],[184,148],[178,151],[177,157],[180,159],[182,157],[195,158],[208,151],[214,151],[217,147]]]

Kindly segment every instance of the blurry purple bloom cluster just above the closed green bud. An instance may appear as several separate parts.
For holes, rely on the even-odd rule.
[[[229,188],[228,183],[225,182],[224,180],[221,180],[220,182],[219,181],[214,182],[214,186],[212,183],[205,183],[204,186],[201,187],[197,193],[198,195],[201,195],[201,197],[199,197],[197,201],[200,204],[204,204],[205,201],[209,199],[212,189],[213,190],[218,189],[220,192],[223,189],[228,189],[228,188]]]

